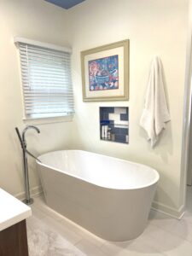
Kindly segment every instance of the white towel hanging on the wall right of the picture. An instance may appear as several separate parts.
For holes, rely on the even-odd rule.
[[[168,121],[170,115],[166,104],[161,61],[159,57],[155,57],[151,65],[145,106],[140,119],[140,125],[147,131],[152,148]]]

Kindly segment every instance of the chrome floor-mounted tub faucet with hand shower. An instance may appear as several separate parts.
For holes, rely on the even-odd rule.
[[[30,189],[29,189],[29,174],[28,174],[27,154],[31,155],[35,160],[38,160],[37,157],[35,157],[32,153],[30,153],[26,149],[26,131],[28,131],[29,129],[34,129],[38,133],[40,133],[40,130],[38,129],[38,127],[33,126],[33,125],[28,125],[22,131],[22,137],[21,137],[19,129],[17,127],[15,128],[16,133],[17,133],[17,135],[18,135],[18,137],[20,139],[20,146],[21,146],[21,148],[23,150],[23,168],[24,168],[25,191],[26,191],[26,199],[24,199],[23,202],[26,203],[26,205],[31,205],[33,203],[33,199],[30,197]],[[40,160],[38,160],[38,161],[40,161]]]

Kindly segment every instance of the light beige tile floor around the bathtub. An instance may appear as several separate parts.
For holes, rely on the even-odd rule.
[[[148,226],[137,239],[109,242],[52,211],[35,198],[27,235],[30,256],[192,256],[192,188],[182,220],[151,211]]]

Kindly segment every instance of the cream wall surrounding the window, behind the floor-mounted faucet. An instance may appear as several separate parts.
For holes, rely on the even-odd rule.
[[[24,190],[20,143],[15,126],[24,127],[20,90],[19,55],[15,36],[68,46],[67,14],[43,0],[0,0],[0,187],[16,195]],[[41,134],[28,131],[26,140],[38,155],[70,144],[71,122],[38,125]],[[31,187],[38,186],[30,160]]]

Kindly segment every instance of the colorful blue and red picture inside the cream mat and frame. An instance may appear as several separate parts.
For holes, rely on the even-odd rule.
[[[90,91],[119,89],[118,55],[91,60],[88,65]]]

